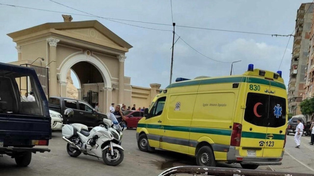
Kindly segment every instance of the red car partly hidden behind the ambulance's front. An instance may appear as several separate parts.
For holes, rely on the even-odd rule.
[[[126,121],[123,121],[121,126],[125,125],[127,128],[136,128],[138,121],[144,117],[144,112],[126,110],[123,111],[123,115],[126,117]]]

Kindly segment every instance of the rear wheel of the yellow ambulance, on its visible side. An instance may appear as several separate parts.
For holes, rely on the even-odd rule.
[[[196,154],[196,163],[198,166],[215,167],[216,160],[214,153],[209,146],[201,147]]]

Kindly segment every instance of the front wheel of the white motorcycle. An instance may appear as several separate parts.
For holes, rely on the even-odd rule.
[[[114,147],[113,148],[113,155],[111,155],[111,151],[109,148],[103,151],[103,160],[106,165],[109,166],[116,166],[120,164],[124,158],[124,152],[122,149]]]

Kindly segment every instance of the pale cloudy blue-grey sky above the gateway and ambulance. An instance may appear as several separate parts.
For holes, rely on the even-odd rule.
[[[107,18],[172,25],[170,0],[54,0],[79,10]],[[188,25],[269,34],[291,34],[297,9],[306,0],[172,0],[173,21]],[[0,0],[0,3],[83,14],[50,0]],[[0,62],[17,60],[16,44],[6,34],[49,22],[62,22],[61,13],[0,5]],[[64,13],[63,13],[64,14]],[[125,75],[131,84],[149,87],[169,84],[172,32],[123,25],[96,17],[72,15],[73,21],[98,20],[133,48],[126,54]],[[121,21],[122,22],[122,21]],[[132,25],[172,30],[172,26],[124,22]],[[247,65],[276,72],[288,37],[243,34],[176,27],[176,33],[194,49],[215,60],[233,62],[234,73],[242,74]],[[176,36],[176,39],[178,37]],[[288,84],[293,37],[280,70]],[[230,63],[210,60],[178,40],[174,48],[173,81],[176,77],[230,74]],[[72,74],[74,75],[74,74]],[[77,81],[75,84],[78,85]]]

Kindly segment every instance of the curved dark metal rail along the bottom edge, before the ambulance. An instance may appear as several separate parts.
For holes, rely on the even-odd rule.
[[[292,172],[274,172],[262,170],[247,170],[236,168],[216,168],[202,166],[179,166],[168,169],[159,176],[176,176],[176,175],[203,175],[203,176],[314,176],[306,173]]]

